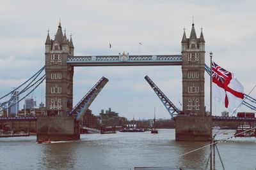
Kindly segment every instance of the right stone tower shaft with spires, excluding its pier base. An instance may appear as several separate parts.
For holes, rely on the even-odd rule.
[[[196,38],[194,24],[190,37],[182,38],[182,110],[186,115],[205,116],[204,67],[205,41],[203,32]]]

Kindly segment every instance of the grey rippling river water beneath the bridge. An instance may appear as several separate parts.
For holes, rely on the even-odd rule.
[[[216,139],[234,131],[219,132]],[[134,132],[81,134],[80,141],[36,143],[36,136],[0,138],[0,169],[134,169],[167,166],[205,169],[209,146],[205,142],[177,142],[174,129],[158,134]],[[225,169],[256,169],[256,138],[218,143]],[[209,167],[209,166],[208,166]],[[222,169],[216,155],[216,169]]]

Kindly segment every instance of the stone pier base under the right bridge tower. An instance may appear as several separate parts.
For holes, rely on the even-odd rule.
[[[176,141],[210,141],[211,136],[211,117],[175,117]]]

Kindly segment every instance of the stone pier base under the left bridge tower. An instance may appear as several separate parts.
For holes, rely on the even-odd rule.
[[[36,141],[50,138],[51,141],[80,139],[79,122],[74,117],[38,117],[36,120]]]

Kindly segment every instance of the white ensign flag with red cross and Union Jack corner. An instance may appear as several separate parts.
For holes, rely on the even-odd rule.
[[[228,111],[233,113],[243,102],[244,87],[236,79],[234,73],[212,62],[212,94],[225,105]]]

